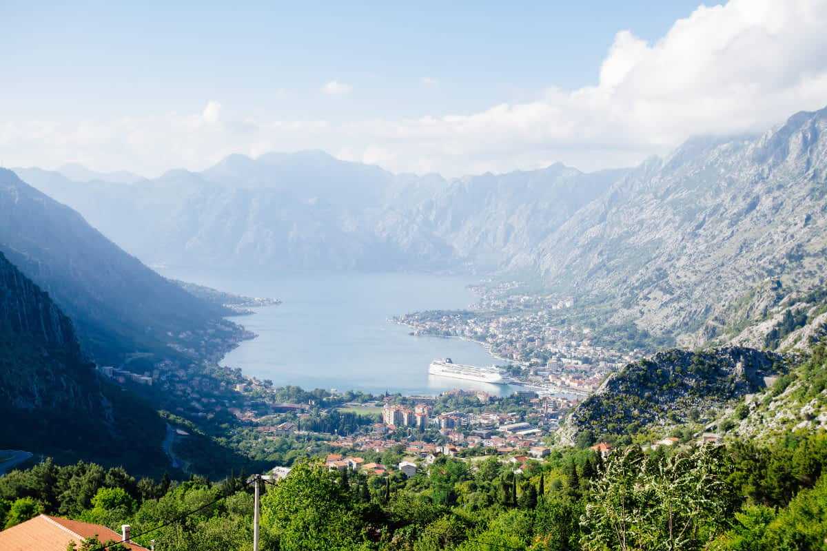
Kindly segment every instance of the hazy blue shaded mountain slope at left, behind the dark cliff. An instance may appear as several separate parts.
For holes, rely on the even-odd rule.
[[[0,250],[74,321],[81,344],[99,362],[126,352],[192,348],[232,339],[227,311],[209,305],[146,268],[69,207],[0,169]],[[219,344],[214,344],[219,346]],[[208,346],[199,347],[208,354]]]

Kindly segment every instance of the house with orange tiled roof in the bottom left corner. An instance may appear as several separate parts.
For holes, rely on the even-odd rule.
[[[69,542],[80,546],[84,539],[97,536],[101,543],[109,540],[120,542],[135,551],[145,550],[129,542],[129,525],[123,525],[123,534],[109,530],[106,526],[93,525],[78,520],[61,519],[50,515],[37,515],[19,525],[0,532],[0,549],[3,551],[66,551]]]

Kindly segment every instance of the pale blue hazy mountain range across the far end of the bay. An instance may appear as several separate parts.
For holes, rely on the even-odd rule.
[[[523,258],[624,171],[446,180],[308,151],[231,155],[132,186],[19,173],[148,264],[480,270]]]

